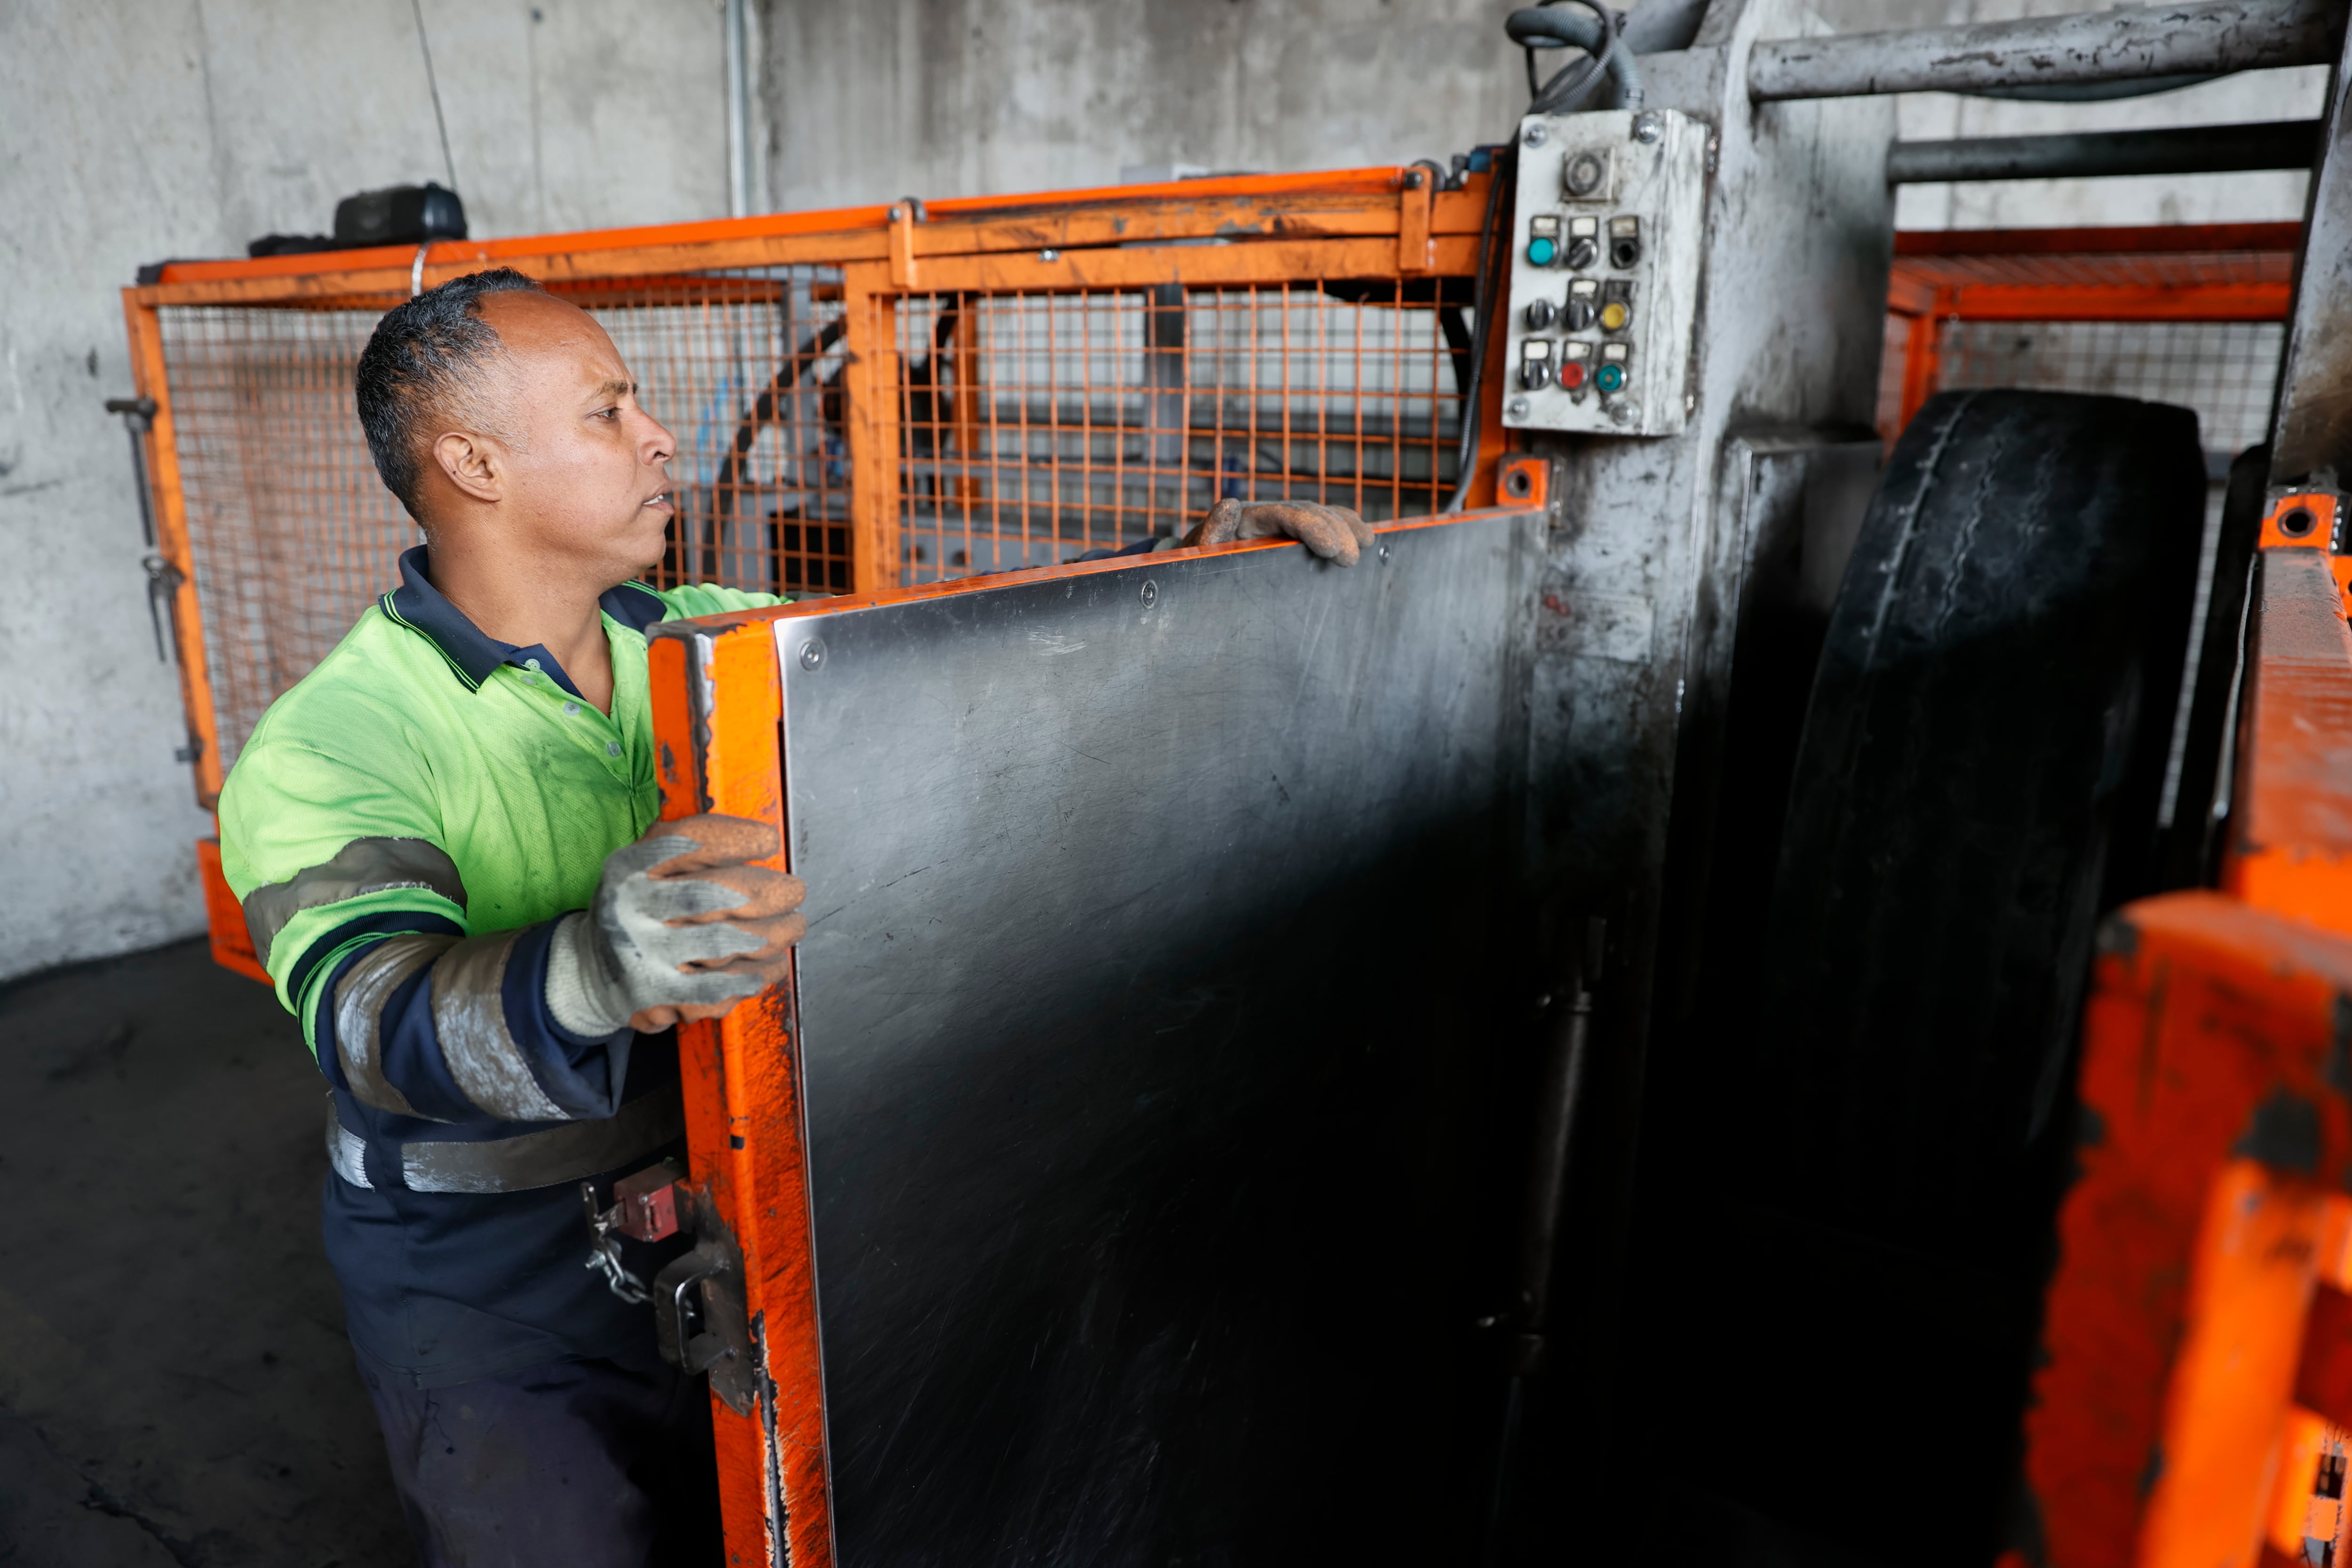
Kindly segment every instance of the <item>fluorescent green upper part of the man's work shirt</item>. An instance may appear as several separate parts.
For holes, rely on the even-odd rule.
[[[644,628],[783,599],[734,588],[623,583],[604,595],[612,715],[555,658],[494,642],[423,576],[423,548],[310,675],[270,703],[221,790],[221,870],[238,898],[294,884],[358,839],[423,839],[456,886],[320,877],[254,922],[278,999],[318,1048],[318,980],[353,922],[421,912],[466,936],[588,907],[604,856],[659,811]],[[419,867],[407,867],[419,870]],[[388,929],[388,926],[386,926]]]

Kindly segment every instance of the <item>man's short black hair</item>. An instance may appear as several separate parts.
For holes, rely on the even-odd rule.
[[[386,489],[419,522],[426,421],[454,411],[452,404],[466,400],[482,364],[499,353],[499,329],[482,320],[482,296],[522,289],[539,292],[539,284],[510,266],[452,277],[386,310],[360,350],[353,390],[367,451]]]

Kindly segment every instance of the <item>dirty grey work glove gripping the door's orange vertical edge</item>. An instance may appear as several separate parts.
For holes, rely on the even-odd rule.
[[[595,905],[562,917],[548,950],[548,1013],[574,1034],[717,1018],[783,978],[807,933],[800,877],[750,865],[776,832],[741,816],[687,816],[604,858]]]

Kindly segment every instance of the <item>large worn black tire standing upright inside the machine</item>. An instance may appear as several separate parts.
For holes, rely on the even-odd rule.
[[[1945,393],[1896,444],[1766,940],[1776,1164],[1813,1218],[2011,1251],[2093,926],[2152,875],[2204,494],[2197,416],[2124,397]]]

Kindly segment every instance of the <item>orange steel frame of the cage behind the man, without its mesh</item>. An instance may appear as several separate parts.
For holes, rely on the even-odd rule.
[[[195,752],[195,795],[219,802],[221,736],[205,661],[205,618],[181,484],[160,313],[174,306],[350,308],[388,306],[414,287],[492,266],[550,284],[642,282],[760,266],[840,268],[847,367],[842,393],[851,473],[851,574],[863,588],[898,581],[901,428],[896,306],[917,294],[1082,294],[1150,284],[1242,287],[1327,277],[1435,280],[1477,268],[1486,174],[1439,190],[1425,167],[1254,174],[1162,186],[1044,195],[896,202],[708,223],[616,228],[515,240],[445,240],[423,247],[174,261],[158,282],[122,292],[132,374],[155,400],[148,475],[158,550],[179,571],[172,597],[181,701]],[[969,355],[969,320],[957,353]],[[1496,367],[1501,355],[1496,355]],[[957,421],[976,423],[969,378]],[[1505,449],[1501,371],[1479,388],[1486,440],[1475,454],[1470,505],[1494,496]],[[219,846],[200,851],[212,952],[263,978],[235,898],[219,877]]]

